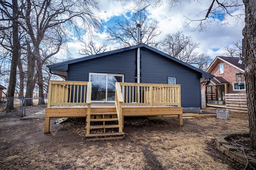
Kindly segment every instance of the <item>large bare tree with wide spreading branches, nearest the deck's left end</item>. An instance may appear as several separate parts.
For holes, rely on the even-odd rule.
[[[45,61],[58,53],[63,44],[66,27],[77,28],[77,19],[82,20],[84,29],[90,31],[91,26],[99,28],[99,22],[94,17],[92,8],[97,6],[96,1],[73,0],[27,0],[24,10],[20,13],[20,26],[30,38],[33,51],[31,55],[36,60],[36,80],[39,88],[39,98],[43,98],[44,83],[42,67]],[[73,31],[75,31],[75,29]],[[52,42],[49,43],[49,40]],[[52,45],[50,53],[43,54],[47,45]],[[46,50],[48,51],[48,49]],[[48,51],[49,52],[49,51]],[[36,81],[33,81],[35,83]],[[34,88],[34,86],[32,86]],[[27,87],[28,88],[28,87]],[[30,87],[31,88],[31,87]],[[32,89],[28,89],[31,90]],[[28,96],[32,97],[32,96]],[[44,100],[40,102],[44,104]]]

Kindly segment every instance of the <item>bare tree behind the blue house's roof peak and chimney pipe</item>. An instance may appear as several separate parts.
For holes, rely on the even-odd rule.
[[[116,20],[116,25],[108,27],[109,40],[120,43],[122,47],[129,47],[136,44],[136,24],[141,25],[140,43],[156,47],[158,42],[155,38],[162,33],[158,30],[156,20],[148,21],[148,14],[144,10],[132,13],[132,17],[125,21]]]

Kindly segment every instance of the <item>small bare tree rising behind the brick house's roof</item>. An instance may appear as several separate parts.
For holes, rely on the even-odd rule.
[[[242,40],[233,41],[232,45],[227,45],[224,50],[223,56],[240,57],[240,54],[242,54]]]

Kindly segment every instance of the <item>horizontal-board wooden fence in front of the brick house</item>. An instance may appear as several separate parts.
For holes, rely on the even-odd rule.
[[[225,94],[225,100],[227,110],[248,113],[246,94]]]

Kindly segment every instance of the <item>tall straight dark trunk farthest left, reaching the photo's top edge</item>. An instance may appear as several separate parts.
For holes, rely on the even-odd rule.
[[[12,0],[12,16],[18,16],[18,2],[17,0]],[[14,97],[15,87],[16,87],[16,76],[17,76],[17,63],[19,58],[20,40],[18,34],[18,19],[12,20],[12,65],[10,72],[10,82],[8,86],[7,97]],[[6,109],[14,109],[14,100],[7,100]]]

